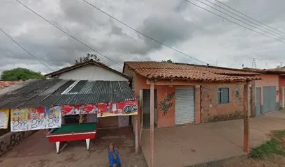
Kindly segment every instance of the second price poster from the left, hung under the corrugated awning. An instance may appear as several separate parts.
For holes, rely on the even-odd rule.
[[[11,109],[11,132],[29,130],[29,109]]]

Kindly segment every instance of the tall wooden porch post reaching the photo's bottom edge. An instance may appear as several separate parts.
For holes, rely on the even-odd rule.
[[[150,83],[150,167],[154,167],[154,81]]]

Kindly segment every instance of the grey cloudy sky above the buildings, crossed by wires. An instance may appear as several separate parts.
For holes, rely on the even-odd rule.
[[[181,63],[202,64],[145,38],[82,0],[20,1],[119,64],[123,64],[124,61],[163,61],[167,59]],[[244,67],[252,67],[253,58],[256,59],[256,67],[259,68],[276,67],[282,62],[285,65],[284,0],[223,1],[228,6],[284,32],[284,36],[279,35],[278,38],[284,39],[284,42],[244,29],[184,0],[87,1],[145,35],[210,65],[242,67],[244,64]],[[203,3],[196,0],[189,1],[242,24]],[[221,6],[215,0],[209,0],[212,3],[207,0],[199,1],[215,8],[218,7],[212,3]],[[231,13],[229,15],[234,16]],[[252,26],[253,24],[248,27],[254,31],[262,29],[260,26]],[[94,51],[31,13],[17,1],[0,1],[0,28],[52,70],[72,65],[75,58],[80,56],[88,53],[94,54]],[[261,31],[262,33],[272,38],[277,38],[275,36],[277,33],[281,34],[263,30],[265,32]],[[50,72],[47,67],[38,63],[1,31],[0,58],[0,71],[14,67],[27,67],[43,73]],[[102,56],[99,58],[110,67],[122,70],[122,66]]]

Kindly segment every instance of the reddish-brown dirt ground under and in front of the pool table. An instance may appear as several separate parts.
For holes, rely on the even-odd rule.
[[[85,141],[68,143],[59,154],[54,143],[47,141],[46,131],[38,131],[26,138],[20,145],[0,157],[2,167],[43,167],[43,166],[108,166],[107,145],[114,142],[122,159],[122,166],[146,166],[143,154],[136,156],[132,129],[99,129],[90,142],[87,151]]]

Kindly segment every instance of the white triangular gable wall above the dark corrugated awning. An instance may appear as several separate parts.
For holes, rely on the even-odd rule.
[[[74,79],[74,80],[105,80],[105,81],[129,81],[115,72],[98,67],[96,65],[85,65],[75,70],[59,74],[59,79]]]

